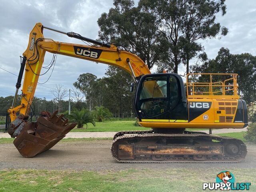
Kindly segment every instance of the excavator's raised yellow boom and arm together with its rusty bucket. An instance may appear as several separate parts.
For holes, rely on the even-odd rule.
[[[72,38],[92,42],[96,45],[87,46],[56,42],[52,39],[44,38],[44,28],[66,34]],[[11,119],[8,133],[11,137],[17,137],[14,140],[14,145],[25,157],[32,157],[48,150],[76,126],[76,124],[68,124],[68,121],[63,116],[56,116],[57,112],[52,115],[49,112],[42,112],[37,122],[28,123],[27,121],[46,52],[117,66],[129,72],[134,81],[144,74],[150,74],[150,70],[138,56],[128,51],[120,50],[114,44],[91,40],[74,32],[61,32],[37,23],[30,32],[28,47],[22,55],[20,72],[16,83],[16,94],[12,107],[8,109]],[[24,70],[21,104],[15,106]]]

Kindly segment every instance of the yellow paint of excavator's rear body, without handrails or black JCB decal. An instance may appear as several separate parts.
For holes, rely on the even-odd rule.
[[[238,106],[236,99],[188,99],[190,102],[212,102],[211,108],[204,114],[201,114],[194,120],[179,119],[142,119],[140,123],[143,127],[152,128],[243,128],[244,123],[234,124],[234,118]],[[218,114],[218,110],[222,110],[222,114]],[[208,116],[204,119],[204,116]],[[229,117],[229,119],[223,118]],[[154,123],[153,123],[154,122]],[[180,124],[178,124],[180,123]]]

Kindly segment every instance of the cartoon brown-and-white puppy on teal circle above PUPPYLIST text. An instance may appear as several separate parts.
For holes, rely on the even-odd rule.
[[[234,176],[229,171],[220,172],[216,177],[216,183],[225,184],[225,187],[220,187],[220,190],[230,190],[231,183],[235,182]]]

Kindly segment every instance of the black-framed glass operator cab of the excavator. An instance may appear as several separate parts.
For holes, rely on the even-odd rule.
[[[188,120],[187,100],[178,74],[146,74],[136,88],[135,109],[140,121]]]

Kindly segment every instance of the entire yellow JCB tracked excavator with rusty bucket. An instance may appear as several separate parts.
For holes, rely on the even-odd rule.
[[[91,44],[57,42],[44,38],[43,30]],[[149,129],[117,132],[111,145],[116,161],[241,162],[245,159],[246,145],[241,140],[186,130],[240,129],[248,125],[246,102],[238,95],[238,74],[187,74],[184,84],[178,74],[151,74],[138,56],[119,47],[75,32],[62,32],[42,23],[34,26],[27,49],[21,56],[16,93],[8,109],[11,119],[8,133],[12,138],[16,137],[14,145],[22,156],[31,158],[52,148],[76,126],[58,115],[58,111],[53,114],[43,111],[36,122],[28,121],[44,56],[50,52],[116,66],[132,76],[130,89],[135,87],[136,118],[141,126]],[[16,106],[24,71],[21,103]]]

